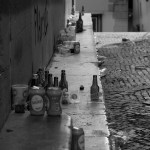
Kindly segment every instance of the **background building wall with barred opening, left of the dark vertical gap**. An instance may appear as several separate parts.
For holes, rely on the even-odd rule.
[[[128,31],[128,0],[76,0],[76,9],[92,14],[96,32]]]

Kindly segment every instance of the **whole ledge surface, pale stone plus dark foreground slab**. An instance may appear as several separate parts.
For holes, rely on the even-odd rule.
[[[24,114],[12,111],[0,134],[0,150],[70,150],[72,126],[83,128],[86,150],[109,150],[109,131],[100,80],[99,101],[93,102],[90,98],[93,75],[99,75],[91,14],[85,14],[83,21],[84,31],[76,34],[80,53],[55,53],[47,67],[59,81],[61,70],[66,71],[69,103],[62,105],[62,115],[50,117],[45,112],[40,117],[31,116],[28,111]],[[84,90],[80,90],[81,85]],[[80,146],[84,146],[83,140]]]

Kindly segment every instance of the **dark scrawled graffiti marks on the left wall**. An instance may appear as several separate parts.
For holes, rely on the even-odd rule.
[[[48,10],[47,0],[44,12],[41,13],[38,5],[34,6],[34,28],[35,28],[35,44],[42,41],[48,30]]]

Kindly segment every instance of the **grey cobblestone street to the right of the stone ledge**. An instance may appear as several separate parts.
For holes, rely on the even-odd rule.
[[[145,33],[95,35],[100,72],[105,70],[100,77],[111,149],[150,150],[150,38]]]

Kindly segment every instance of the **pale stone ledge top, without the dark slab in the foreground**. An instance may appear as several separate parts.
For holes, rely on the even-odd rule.
[[[53,76],[59,78],[61,70],[66,70],[69,95],[75,93],[77,99],[70,98],[69,104],[63,105],[62,108],[64,113],[71,116],[73,126],[83,128],[85,150],[109,150],[109,132],[100,80],[99,101],[93,102],[90,98],[93,75],[99,75],[91,14],[85,14],[82,18],[84,31],[76,34],[76,40],[80,42],[80,53],[57,53],[48,68]],[[84,90],[80,90],[81,85]]]

